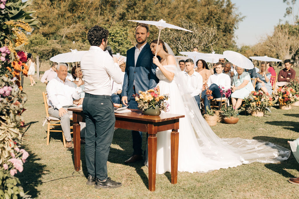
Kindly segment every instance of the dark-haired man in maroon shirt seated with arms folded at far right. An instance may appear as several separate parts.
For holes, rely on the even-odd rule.
[[[291,60],[286,59],[284,61],[284,69],[280,70],[278,75],[277,75],[277,83],[276,83],[276,88],[282,87],[286,84],[288,84],[292,79],[295,79],[296,76],[296,71],[291,68]]]

